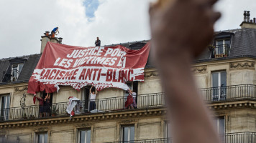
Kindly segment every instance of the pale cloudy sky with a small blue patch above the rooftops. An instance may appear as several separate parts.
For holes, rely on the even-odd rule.
[[[40,53],[41,36],[55,26],[63,44],[73,46],[94,46],[96,36],[101,45],[150,39],[149,1],[1,0],[0,59]],[[216,9],[216,31],[238,29],[244,10],[256,17],[255,0],[221,0]]]

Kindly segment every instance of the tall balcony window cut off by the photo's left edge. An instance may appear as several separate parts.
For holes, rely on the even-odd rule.
[[[10,107],[10,95],[2,94],[0,95],[0,121],[8,119]]]

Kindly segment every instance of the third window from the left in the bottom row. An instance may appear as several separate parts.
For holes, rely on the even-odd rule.
[[[134,126],[122,127],[122,142],[134,140]]]

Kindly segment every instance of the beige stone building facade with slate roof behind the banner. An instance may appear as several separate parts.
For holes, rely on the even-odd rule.
[[[256,142],[256,24],[243,21],[241,29],[216,32],[209,49],[196,59],[198,94],[214,111],[214,124],[223,142]],[[41,52],[47,41],[42,36]],[[124,43],[140,49],[147,41]],[[28,80],[41,54],[0,59],[0,142],[172,142],[170,122],[155,66],[145,66],[145,82],[127,83],[137,92],[137,107],[125,109],[127,93],[104,89],[96,97],[96,112],[89,112],[88,89],[77,92],[60,87],[51,94],[55,115],[40,117],[38,102],[27,94]],[[149,58],[150,59],[150,58]],[[186,87],[184,87],[186,89]],[[45,93],[37,93],[37,97]],[[71,119],[65,112],[68,97],[82,102]]]

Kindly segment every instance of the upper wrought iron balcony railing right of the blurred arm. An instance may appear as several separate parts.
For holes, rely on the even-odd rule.
[[[256,100],[256,85],[241,84],[198,89],[206,102],[223,102],[241,99]]]

